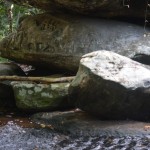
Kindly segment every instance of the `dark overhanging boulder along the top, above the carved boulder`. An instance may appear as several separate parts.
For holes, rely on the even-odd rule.
[[[45,11],[59,10],[101,17],[143,17],[146,0],[12,0],[19,5],[31,5]],[[123,3],[124,1],[124,3]],[[128,6],[130,8],[128,8]]]

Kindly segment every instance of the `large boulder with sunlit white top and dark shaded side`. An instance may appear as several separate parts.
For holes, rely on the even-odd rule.
[[[150,119],[150,71],[109,51],[84,55],[70,102],[101,119]]]

